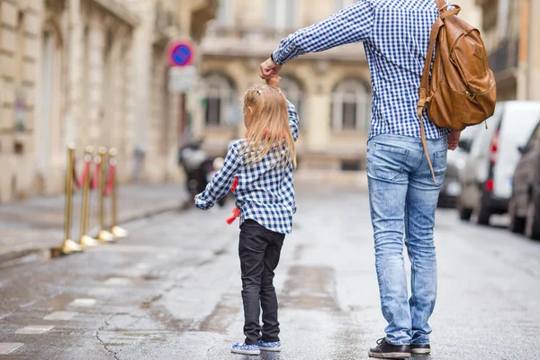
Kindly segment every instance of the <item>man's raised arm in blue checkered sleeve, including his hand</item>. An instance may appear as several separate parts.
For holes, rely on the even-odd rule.
[[[303,54],[366,41],[373,27],[374,12],[371,4],[359,0],[327,20],[296,31],[282,40],[271,58],[261,64],[261,77],[274,76],[284,63]]]

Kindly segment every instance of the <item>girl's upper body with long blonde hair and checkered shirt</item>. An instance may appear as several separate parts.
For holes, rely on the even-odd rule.
[[[293,229],[294,141],[298,139],[298,112],[273,86],[256,86],[244,98],[245,139],[234,142],[224,166],[196,205],[208,209],[229,192],[235,178],[240,225],[255,220],[266,229],[289,234]]]

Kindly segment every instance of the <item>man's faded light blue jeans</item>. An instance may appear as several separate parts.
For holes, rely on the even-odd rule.
[[[369,199],[374,226],[375,265],[386,340],[392,345],[427,345],[428,319],[437,298],[435,211],[445,179],[447,142],[428,140],[437,185],[420,139],[379,135],[367,147]],[[408,300],[403,242],[411,263]]]

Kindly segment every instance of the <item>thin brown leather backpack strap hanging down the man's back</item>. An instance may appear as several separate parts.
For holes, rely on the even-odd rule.
[[[444,2],[445,0],[437,0],[438,2]],[[431,70],[431,62],[433,60],[433,53],[435,52],[435,45],[437,43],[437,37],[439,31],[444,26],[443,20],[438,17],[437,21],[431,28],[431,35],[429,36],[429,47],[428,54],[426,55],[426,62],[424,63],[424,72],[422,73],[422,80],[420,83],[420,92],[419,92],[419,103],[418,103],[418,115],[420,121],[420,135],[422,139],[422,145],[424,146],[424,152],[426,157],[428,157],[429,169],[431,170],[431,175],[433,176],[433,181],[437,185],[437,179],[435,178],[435,170],[433,169],[433,164],[431,164],[431,157],[429,157],[428,152],[428,142],[426,140],[426,130],[424,129],[424,117],[422,112],[428,103],[428,94],[429,94],[429,70]]]

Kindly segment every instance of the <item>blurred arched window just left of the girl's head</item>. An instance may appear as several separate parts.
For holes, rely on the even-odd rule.
[[[236,91],[234,85],[228,77],[220,74],[211,74],[204,76],[203,79],[206,92],[206,125],[221,126],[229,121],[231,106],[234,106],[234,96]]]

